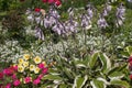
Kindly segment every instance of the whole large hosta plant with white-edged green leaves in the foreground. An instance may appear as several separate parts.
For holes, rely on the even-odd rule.
[[[82,58],[57,57],[54,68],[43,79],[51,84],[43,87],[56,88],[129,88],[122,72],[127,64],[116,65],[110,58],[97,52]]]

